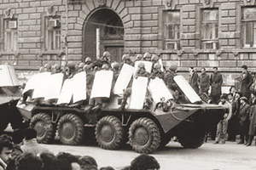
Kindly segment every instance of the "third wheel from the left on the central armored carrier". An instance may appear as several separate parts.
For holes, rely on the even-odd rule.
[[[104,116],[96,124],[97,143],[106,150],[118,149],[124,139],[122,123],[115,116]]]

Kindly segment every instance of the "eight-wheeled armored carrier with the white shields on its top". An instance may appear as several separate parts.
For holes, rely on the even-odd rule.
[[[139,62],[151,71],[149,61]],[[173,136],[185,148],[200,147],[225,109],[202,102],[182,76],[174,77],[183,98],[177,102],[162,79],[134,77],[137,66],[123,65],[117,79],[113,71],[96,71],[91,89],[84,71],[66,80],[62,73],[39,73],[23,91],[32,90],[32,95],[17,108],[37,130],[41,143],[50,143],[57,132],[62,144],[81,144],[90,138],[85,127],[93,127],[97,143],[107,150],[128,142],[139,153],[152,153]],[[120,109],[129,86],[131,95]]]

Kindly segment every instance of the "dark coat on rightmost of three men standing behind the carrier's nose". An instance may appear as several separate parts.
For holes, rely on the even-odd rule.
[[[221,86],[223,83],[222,75],[220,73],[213,73],[211,75],[210,83],[212,86],[211,95],[220,96],[221,95]]]

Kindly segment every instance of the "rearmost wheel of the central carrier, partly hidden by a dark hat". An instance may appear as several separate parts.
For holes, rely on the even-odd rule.
[[[39,143],[49,144],[55,138],[55,125],[51,122],[50,116],[46,113],[38,113],[32,116],[30,127],[37,131]]]

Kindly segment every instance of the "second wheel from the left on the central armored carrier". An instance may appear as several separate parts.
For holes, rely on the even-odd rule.
[[[81,144],[84,135],[84,122],[74,114],[61,116],[58,133],[62,144]]]

